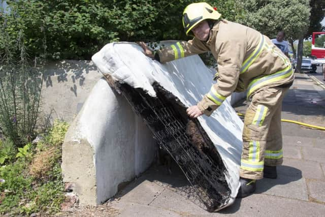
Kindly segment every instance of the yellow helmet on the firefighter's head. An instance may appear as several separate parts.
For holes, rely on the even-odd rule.
[[[200,2],[188,5],[183,11],[183,26],[186,35],[199,22],[206,19],[217,20],[221,16],[216,8],[212,8],[208,3]]]

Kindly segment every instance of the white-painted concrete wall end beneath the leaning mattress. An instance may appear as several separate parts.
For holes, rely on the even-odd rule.
[[[99,204],[152,163],[156,143],[126,100],[106,80],[94,86],[62,146],[64,182],[81,204]]]

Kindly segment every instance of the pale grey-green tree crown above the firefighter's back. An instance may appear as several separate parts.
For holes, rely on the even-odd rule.
[[[241,23],[255,28],[270,38],[280,30],[286,39],[296,40],[307,32],[310,7],[308,0],[240,0],[246,14]]]

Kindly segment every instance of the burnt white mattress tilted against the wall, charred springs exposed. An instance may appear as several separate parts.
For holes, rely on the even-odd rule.
[[[201,58],[160,64],[137,44],[122,42],[107,44],[92,61],[181,168],[191,187],[188,198],[208,211],[232,204],[240,185],[243,122],[229,99],[210,117],[186,115],[187,107],[196,105],[213,84],[214,73]]]

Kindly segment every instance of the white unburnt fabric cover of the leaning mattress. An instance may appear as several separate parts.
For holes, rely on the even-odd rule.
[[[169,45],[174,42],[163,42]],[[196,105],[213,85],[213,75],[198,55],[160,64],[146,57],[135,43],[111,43],[92,57],[105,75],[134,87],[143,88],[155,97],[151,86],[157,81],[172,92],[185,106]],[[219,151],[227,168],[225,174],[232,191],[228,206],[234,202],[239,189],[239,165],[242,149],[243,122],[230,105],[228,98],[210,117],[199,121]]]

